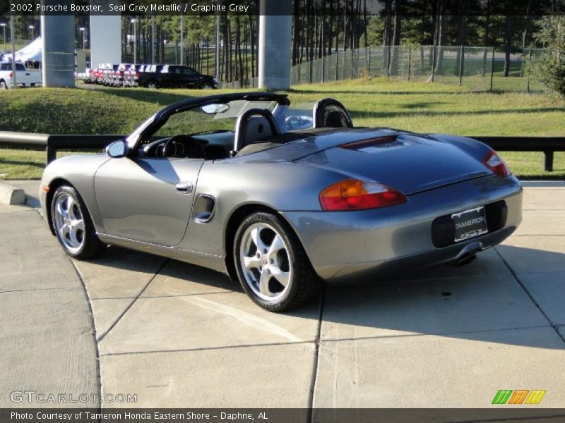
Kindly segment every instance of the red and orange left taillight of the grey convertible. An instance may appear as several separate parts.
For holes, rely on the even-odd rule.
[[[364,210],[402,204],[408,199],[397,190],[378,182],[346,179],[320,192],[323,210]]]

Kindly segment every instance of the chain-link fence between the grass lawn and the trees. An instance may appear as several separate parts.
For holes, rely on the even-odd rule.
[[[387,46],[336,51],[292,66],[291,84],[356,78],[398,78],[464,85],[479,91],[539,91],[528,68],[543,49],[513,49],[508,76],[506,53],[494,47]]]

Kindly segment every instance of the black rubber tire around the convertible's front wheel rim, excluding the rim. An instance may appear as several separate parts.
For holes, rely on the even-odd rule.
[[[57,211],[55,208],[57,204],[57,199],[63,195],[65,197],[70,196],[73,198],[83,217],[83,223],[84,223],[84,231],[82,234],[83,243],[77,251],[69,250],[69,247],[61,239],[61,234],[57,230],[57,224],[55,222],[56,219],[55,216]],[[79,195],[78,192],[73,187],[69,185],[61,185],[59,188],[57,188],[57,190],[55,190],[53,194],[50,209],[51,209],[51,225],[53,231],[57,236],[57,240],[59,240],[59,244],[61,244],[61,247],[63,247],[63,250],[66,252],[67,255],[73,257],[73,259],[85,260],[85,259],[92,259],[94,257],[97,257],[102,252],[104,252],[104,250],[106,250],[107,245],[102,243],[100,241],[100,238],[98,238],[98,235],[96,235],[96,230],[94,228],[93,221],[90,218],[90,214],[88,214],[88,209],[86,208],[85,202],[83,201],[81,195]]]

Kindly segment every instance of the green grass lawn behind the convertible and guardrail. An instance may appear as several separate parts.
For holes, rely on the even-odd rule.
[[[544,94],[469,92],[468,86],[395,80],[349,80],[298,85],[294,105],[339,99],[356,125],[458,135],[565,135],[565,104]],[[127,134],[172,102],[210,94],[199,90],[136,88],[27,89],[0,92],[0,130],[31,133]],[[62,153],[64,154],[64,153]],[[525,178],[565,178],[565,153],[555,171],[542,171],[542,153],[502,152],[513,173]],[[39,178],[44,152],[0,149],[0,178]]]

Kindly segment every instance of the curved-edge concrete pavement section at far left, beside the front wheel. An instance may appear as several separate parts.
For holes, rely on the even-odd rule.
[[[0,407],[38,407],[13,391],[100,393],[85,289],[36,209],[0,205]],[[97,405],[49,404],[51,407]]]

